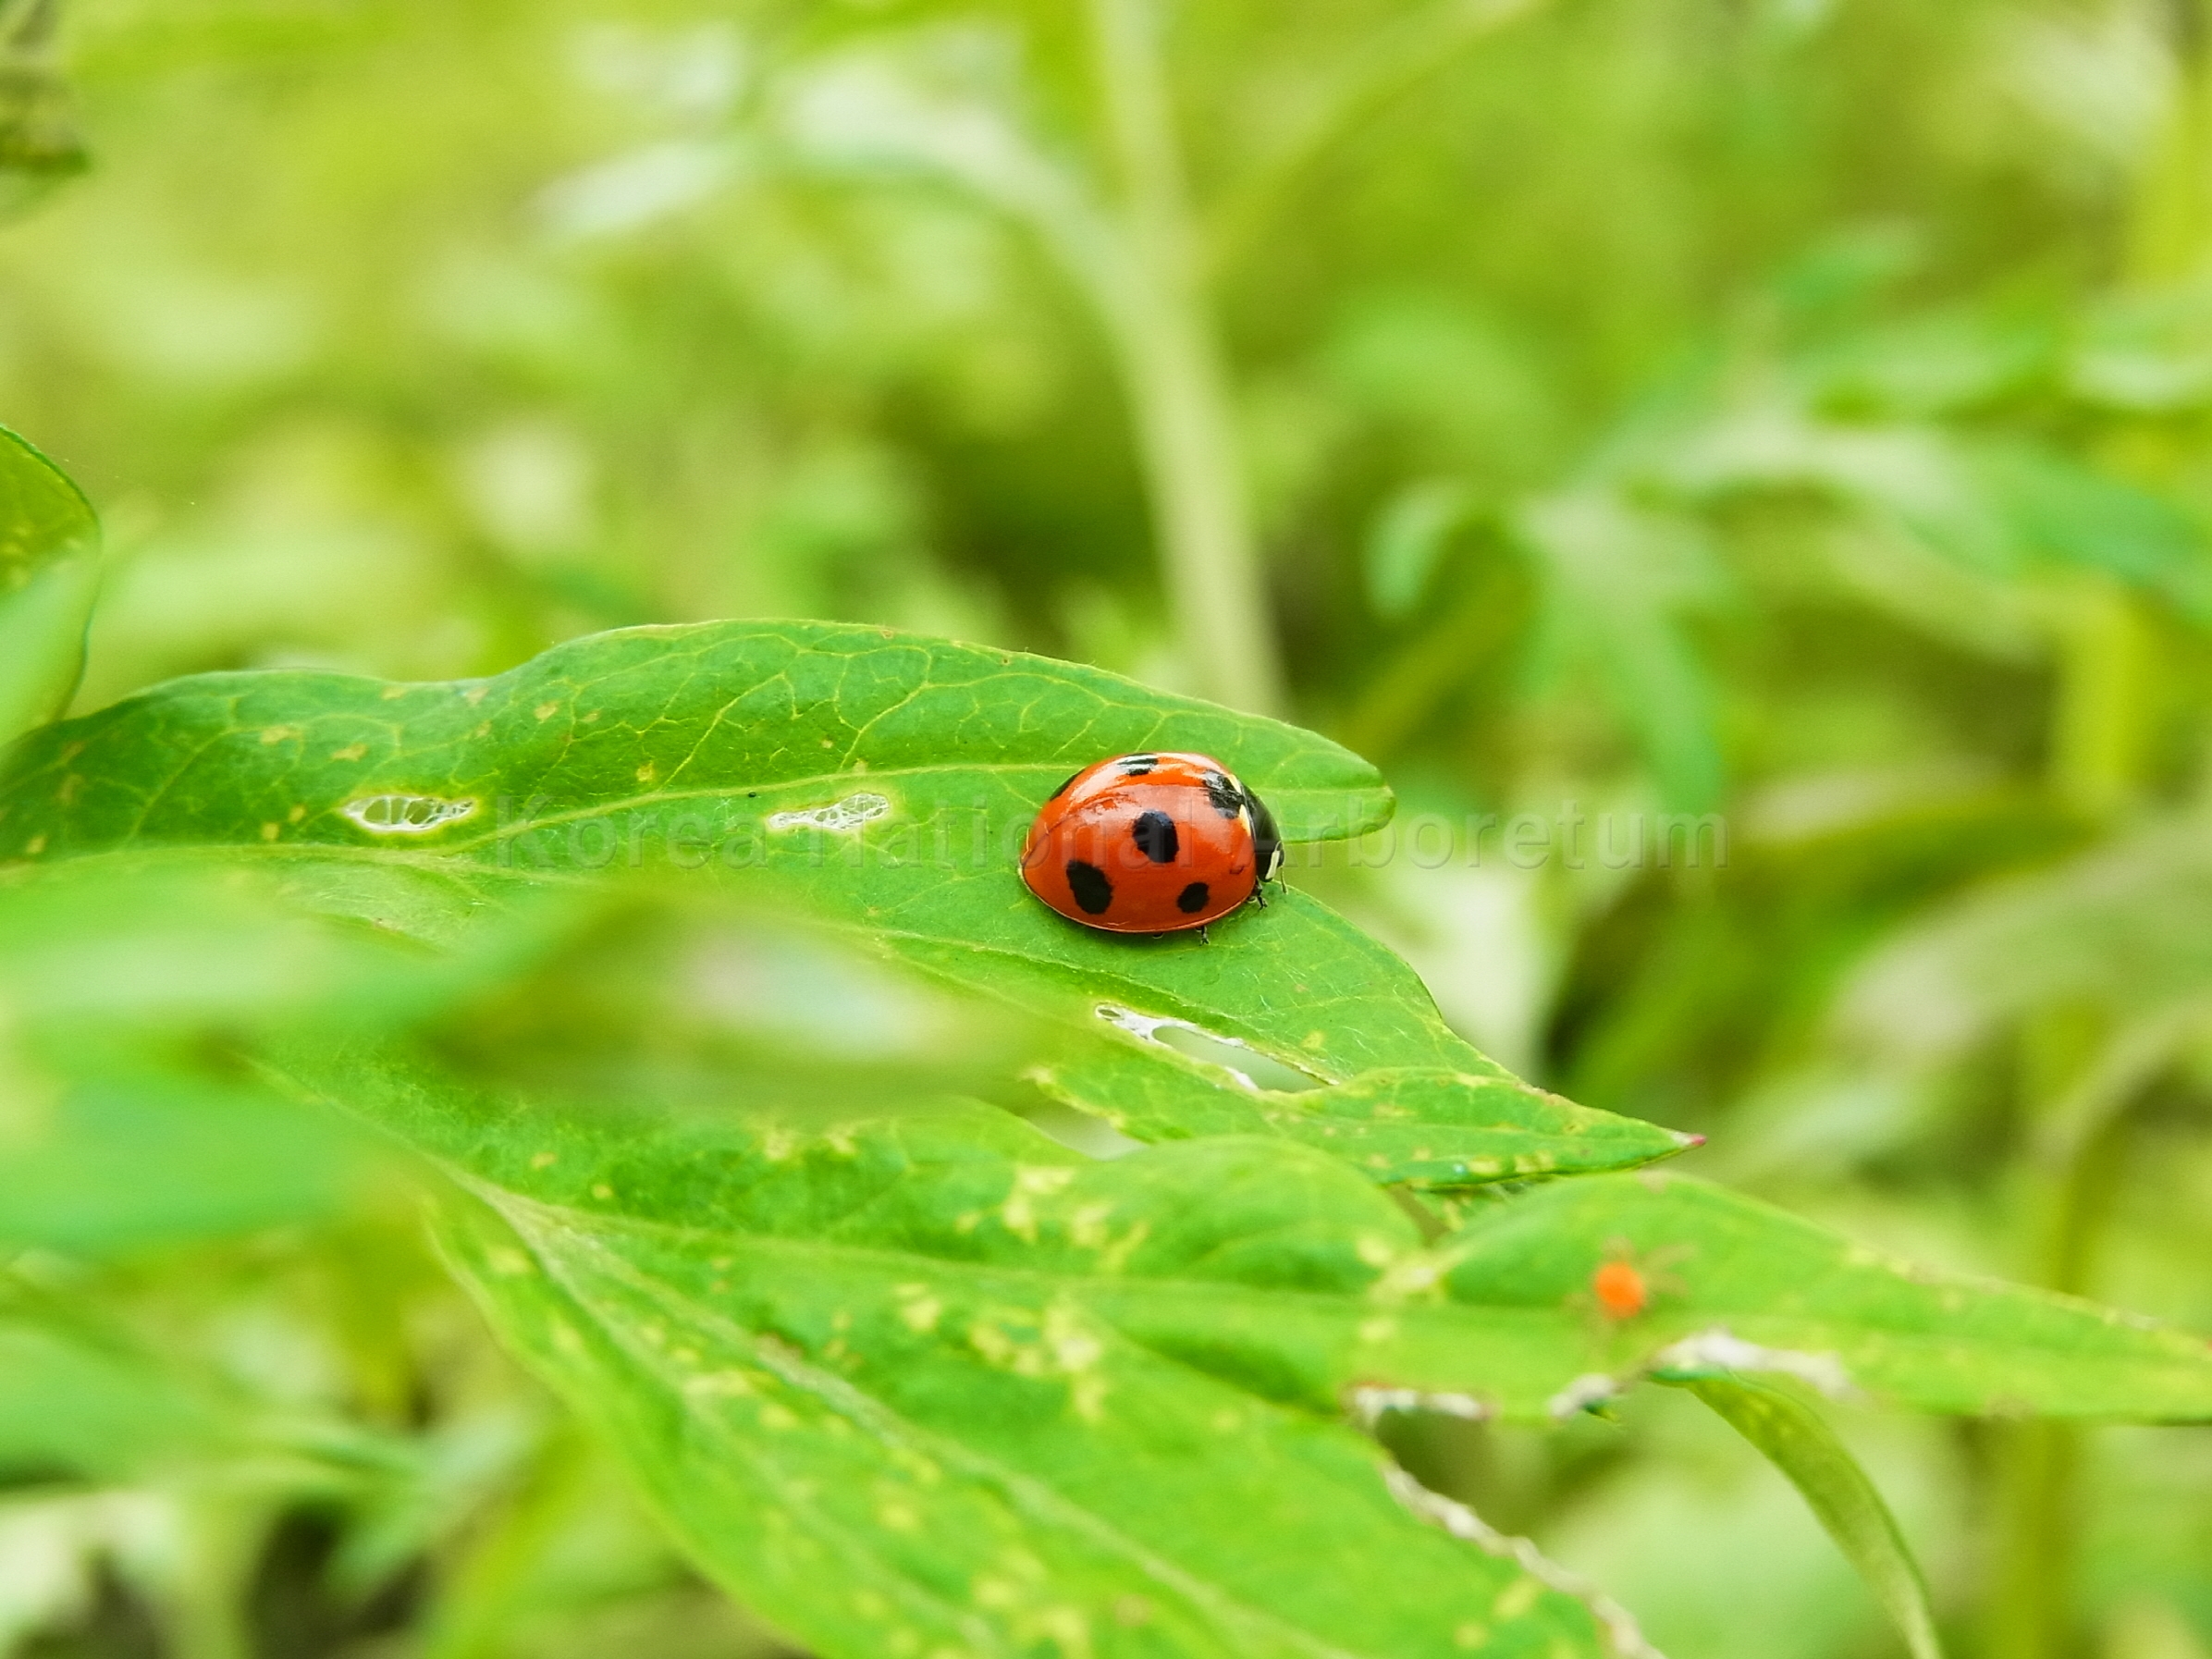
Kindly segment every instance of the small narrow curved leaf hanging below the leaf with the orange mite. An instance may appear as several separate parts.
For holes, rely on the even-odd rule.
[[[1913,1659],[1942,1659],[1936,1610],[1905,1533],[1849,1447],[1785,1389],[1743,1378],[1686,1385],[1790,1478],[1905,1637]]]

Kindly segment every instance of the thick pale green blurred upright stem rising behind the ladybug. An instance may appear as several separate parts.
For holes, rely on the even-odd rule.
[[[1150,0],[1091,0],[1121,223],[1130,252],[1115,347],[1192,690],[1283,708],[1221,352],[1197,281],[1197,243]]]

